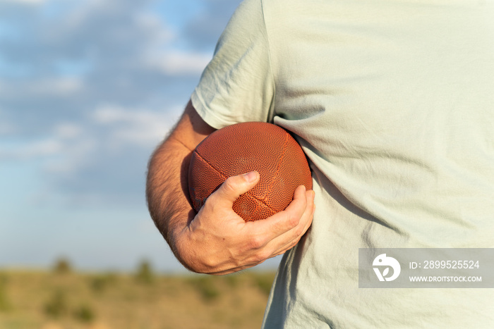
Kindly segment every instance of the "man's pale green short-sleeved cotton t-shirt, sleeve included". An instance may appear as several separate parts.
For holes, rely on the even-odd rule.
[[[265,328],[494,328],[492,289],[359,289],[359,248],[494,247],[493,0],[246,0],[192,95],[313,170]]]

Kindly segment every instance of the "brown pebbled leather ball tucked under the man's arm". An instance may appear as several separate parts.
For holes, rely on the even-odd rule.
[[[227,178],[252,170],[260,174],[258,184],[233,206],[245,221],[284,210],[299,185],[312,189],[306,156],[287,131],[271,123],[237,123],[216,130],[193,151],[188,188],[195,211]]]

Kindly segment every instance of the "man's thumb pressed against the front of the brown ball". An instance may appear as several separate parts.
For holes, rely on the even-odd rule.
[[[210,195],[208,199],[219,206],[225,206],[231,208],[234,201],[240,197],[241,194],[251,190],[259,181],[259,173],[257,171],[251,171],[243,175],[236,175],[227,178],[216,192]]]

